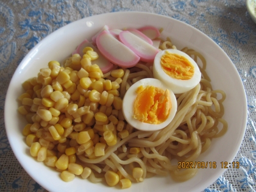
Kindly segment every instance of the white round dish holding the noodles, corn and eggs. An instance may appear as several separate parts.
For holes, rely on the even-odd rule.
[[[140,12],[117,12],[96,15],[68,24],[56,30],[40,41],[26,55],[13,74],[5,100],[5,127],[9,143],[16,158],[27,173],[42,187],[54,191],[118,191],[119,187],[107,187],[94,184],[76,177],[73,182],[63,182],[59,172],[29,155],[21,130],[26,122],[18,114],[16,98],[23,93],[22,82],[37,76],[40,68],[46,67],[50,60],[63,60],[85,38],[90,39],[105,24],[111,28],[155,26],[163,27],[163,36],[170,37],[178,49],[188,46],[196,49],[207,60],[207,73],[215,89],[224,90],[227,99],[224,102],[225,115],[229,129],[224,137],[213,140],[210,149],[202,154],[198,161],[216,162],[216,168],[200,169],[193,179],[177,183],[170,177],[153,177],[141,183],[133,183],[124,191],[202,191],[215,182],[226,170],[221,162],[232,162],[243,140],[247,119],[246,95],[235,66],[224,51],[207,35],[194,27],[167,16]],[[10,107],[12,106],[12,107]]]

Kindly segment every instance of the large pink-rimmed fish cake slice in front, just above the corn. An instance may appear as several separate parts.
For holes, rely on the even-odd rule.
[[[130,68],[135,66],[140,60],[137,54],[106,30],[98,35],[96,44],[101,54],[115,65]]]

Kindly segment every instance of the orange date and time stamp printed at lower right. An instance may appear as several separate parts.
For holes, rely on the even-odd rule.
[[[178,162],[178,168],[217,168],[217,163],[216,162]],[[227,168],[240,168],[240,163],[239,162],[221,162],[221,168],[222,169],[227,169]]]

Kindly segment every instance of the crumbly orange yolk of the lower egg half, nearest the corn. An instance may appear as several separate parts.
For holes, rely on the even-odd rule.
[[[133,118],[150,124],[160,124],[168,118],[172,106],[169,90],[141,85],[136,92]]]

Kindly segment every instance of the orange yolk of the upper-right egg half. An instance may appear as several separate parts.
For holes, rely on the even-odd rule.
[[[186,57],[168,51],[161,57],[161,66],[174,79],[188,80],[194,75],[194,66]]]

